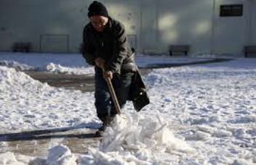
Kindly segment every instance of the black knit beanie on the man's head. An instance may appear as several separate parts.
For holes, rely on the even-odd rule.
[[[107,8],[104,6],[104,4],[101,4],[99,1],[93,1],[88,8],[88,17],[92,17],[95,15],[108,17]]]

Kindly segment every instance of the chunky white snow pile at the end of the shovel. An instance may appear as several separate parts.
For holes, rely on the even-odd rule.
[[[138,114],[116,117],[104,132],[100,150],[90,151],[92,158],[84,157],[85,164],[91,159],[95,164],[170,164],[196,155],[196,150],[184,138],[176,138],[160,116],[148,119]]]

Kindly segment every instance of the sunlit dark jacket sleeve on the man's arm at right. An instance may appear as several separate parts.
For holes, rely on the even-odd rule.
[[[114,27],[114,48],[113,55],[108,62],[107,70],[119,72],[121,64],[127,56],[127,35],[124,30],[124,25],[121,23]]]

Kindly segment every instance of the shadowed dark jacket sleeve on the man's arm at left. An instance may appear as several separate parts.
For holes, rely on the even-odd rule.
[[[88,64],[95,65],[95,48],[89,39],[87,27],[84,27],[83,43],[81,45],[81,53]]]

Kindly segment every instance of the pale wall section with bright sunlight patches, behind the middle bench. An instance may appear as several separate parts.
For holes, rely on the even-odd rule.
[[[167,50],[169,44],[186,44],[191,46],[191,54],[209,53],[212,4],[203,0],[159,1],[161,50]]]

